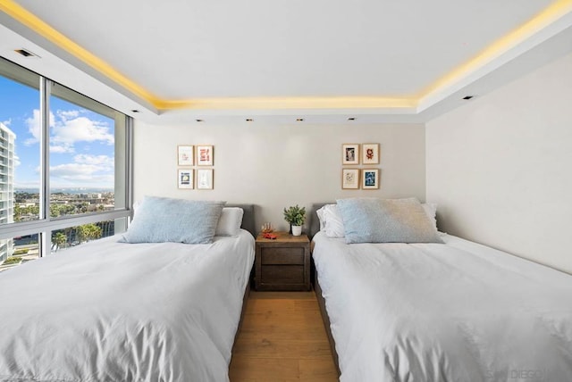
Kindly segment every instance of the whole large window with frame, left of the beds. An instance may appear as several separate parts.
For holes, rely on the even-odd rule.
[[[41,257],[125,230],[130,129],[122,112],[0,58],[0,266],[33,259],[21,255],[29,237]]]

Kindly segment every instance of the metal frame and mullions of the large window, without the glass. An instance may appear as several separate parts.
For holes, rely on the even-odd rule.
[[[79,92],[71,89],[70,87],[65,87],[64,85],[57,84],[51,79],[47,79],[41,74],[35,73],[34,71],[29,71],[20,65],[10,62],[9,60],[0,57],[0,75],[8,79],[13,79],[20,82],[23,85],[30,85],[27,81],[22,81],[21,79],[26,79],[29,75],[39,76],[39,110],[41,119],[41,134],[40,134],[40,187],[39,187],[39,216],[38,220],[22,221],[22,222],[12,222],[0,225],[0,240],[10,239],[13,237],[25,236],[39,234],[38,244],[40,257],[46,256],[51,248],[51,233],[56,229],[70,228],[74,226],[80,226],[88,223],[96,223],[102,220],[115,220],[116,221],[116,231],[119,229],[127,229],[127,224],[131,216],[131,206],[133,200],[133,119],[122,113],[116,111],[114,108],[107,106],[105,104],[99,103],[86,95],[81,95]],[[6,72],[8,74],[6,74]],[[49,99],[51,95],[60,96],[57,93],[52,94],[51,89],[53,87],[58,87],[60,91],[68,94],[80,95],[83,100],[80,106],[86,107],[94,112],[102,113],[109,116],[109,113],[101,112],[112,109],[120,114],[121,119],[124,120],[124,132],[121,137],[122,142],[115,141],[114,143],[114,157],[116,161],[120,161],[119,165],[115,165],[115,186],[114,195],[115,203],[117,205],[118,196],[122,207],[117,208],[113,211],[106,212],[87,212],[74,215],[64,215],[56,218],[50,217],[50,185],[49,185]],[[34,86],[35,87],[35,86]],[[70,93],[72,92],[72,93]],[[88,104],[85,104],[85,102]],[[91,104],[93,102],[93,104]],[[117,118],[115,117],[117,122]],[[116,123],[117,125],[117,123]],[[115,126],[115,129],[118,129]],[[115,133],[115,137],[118,137]],[[120,166],[120,167],[118,167]],[[121,175],[118,176],[118,168],[122,168],[124,173],[123,179]],[[118,184],[118,180],[122,180]],[[119,190],[119,193],[117,191]],[[117,229],[119,228],[119,229]]]

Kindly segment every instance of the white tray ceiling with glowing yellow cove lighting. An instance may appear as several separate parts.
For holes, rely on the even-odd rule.
[[[426,120],[459,104],[458,95],[488,91],[515,73],[572,51],[572,1],[567,0],[16,3],[148,96],[118,84],[34,26],[2,12],[0,55],[74,88],[80,80],[88,84],[84,92],[126,108],[123,112],[138,109],[139,118],[150,120],[245,115]],[[558,6],[558,17],[546,19],[546,25],[442,81],[502,37]],[[22,60],[13,53],[21,47],[42,58]],[[506,73],[495,75],[503,68]],[[239,103],[217,104],[230,98]],[[366,105],[368,99],[377,104]],[[165,111],[154,100],[186,106]]]

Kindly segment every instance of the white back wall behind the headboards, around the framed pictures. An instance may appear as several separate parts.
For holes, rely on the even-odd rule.
[[[425,200],[425,127],[422,124],[214,125],[135,123],[135,200],[143,195],[255,203],[257,227],[286,229],[282,210],[292,204],[358,195],[416,196]],[[341,190],[341,145],[380,143],[381,188]],[[214,190],[180,190],[177,145],[214,145]],[[355,167],[355,166],[348,166]],[[365,166],[360,166],[365,167]]]

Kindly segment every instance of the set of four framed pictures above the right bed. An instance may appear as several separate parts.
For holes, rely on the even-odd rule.
[[[377,143],[341,145],[341,164],[374,165],[380,163],[380,148]],[[342,167],[342,189],[372,190],[380,187],[380,170],[374,168]]]

